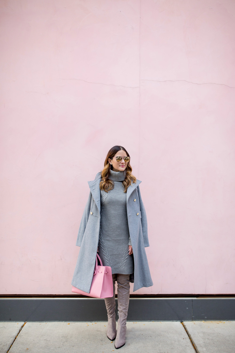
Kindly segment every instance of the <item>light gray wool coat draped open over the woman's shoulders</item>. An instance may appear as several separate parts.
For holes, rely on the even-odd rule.
[[[88,181],[90,193],[81,219],[76,245],[80,252],[74,270],[72,285],[89,293],[95,267],[100,231],[101,173]],[[140,195],[140,180],[132,183],[126,192],[129,234],[134,255],[134,289],[153,285],[144,247],[149,246],[147,217]],[[136,201],[134,201],[136,199]]]

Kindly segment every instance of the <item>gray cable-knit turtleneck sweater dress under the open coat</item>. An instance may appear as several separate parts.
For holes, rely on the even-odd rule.
[[[134,258],[129,255],[131,245],[126,211],[126,193],[122,181],[126,170],[110,170],[109,179],[114,187],[109,192],[100,190],[99,256],[104,266],[110,266],[112,274],[134,272]]]

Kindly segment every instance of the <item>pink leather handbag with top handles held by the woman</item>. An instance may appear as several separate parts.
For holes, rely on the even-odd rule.
[[[97,257],[100,261],[100,266],[98,265]],[[109,298],[113,296],[113,279],[111,267],[103,266],[98,253],[96,254],[95,269],[90,293],[81,291],[74,286],[72,288],[72,292],[88,295],[89,297],[94,298]]]

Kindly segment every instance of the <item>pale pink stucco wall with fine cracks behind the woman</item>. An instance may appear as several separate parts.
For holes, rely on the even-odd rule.
[[[234,293],[234,1],[0,7],[0,292],[72,294],[87,180],[121,144],[149,225],[135,293]]]

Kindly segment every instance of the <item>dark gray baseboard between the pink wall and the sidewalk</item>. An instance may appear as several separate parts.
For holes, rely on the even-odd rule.
[[[0,298],[0,321],[96,320],[107,320],[104,299]],[[235,298],[130,298],[128,321],[191,320],[235,320]]]

